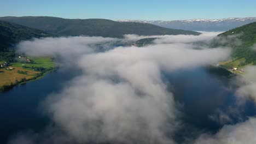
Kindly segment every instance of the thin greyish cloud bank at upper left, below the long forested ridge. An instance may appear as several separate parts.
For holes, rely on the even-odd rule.
[[[16,52],[36,57],[54,57],[60,67],[71,67],[77,63],[80,56],[102,49],[111,49],[113,47],[111,44],[118,40],[103,37],[34,38],[19,43]],[[100,46],[103,48],[98,48]]]

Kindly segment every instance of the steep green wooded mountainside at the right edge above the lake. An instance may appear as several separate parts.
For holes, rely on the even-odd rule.
[[[234,49],[232,53],[234,61],[244,58],[243,65],[249,63],[256,65],[256,22],[219,34],[218,38],[228,40],[224,46],[228,43],[233,44],[231,47]],[[237,39],[241,40],[241,44],[236,44]]]

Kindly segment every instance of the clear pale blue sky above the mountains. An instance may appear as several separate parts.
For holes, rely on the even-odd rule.
[[[0,16],[184,20],[256,17],[256,0],[0,0]]]

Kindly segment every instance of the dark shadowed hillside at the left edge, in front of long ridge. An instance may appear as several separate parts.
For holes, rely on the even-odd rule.
[[[0,61],[8,61],[10,57],[14,56],[13,45],[19,41],[52,36],[54,35],[39,29],[0,21]]]

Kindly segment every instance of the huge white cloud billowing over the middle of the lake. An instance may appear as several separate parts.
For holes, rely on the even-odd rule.
[[[58,100],[48,104],[54,120],[82,142],[172,142],[165,133],[176,130],[176,104],[161,79],[161,70],[218,62],[229,52],[168,46],[117,47],[85,55],[79,61],[85,76],[75,79]],[[168,122],[173,124],[165,129]]]

